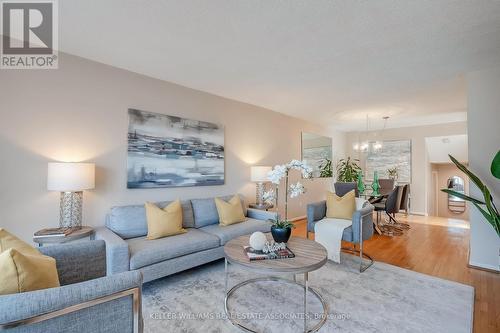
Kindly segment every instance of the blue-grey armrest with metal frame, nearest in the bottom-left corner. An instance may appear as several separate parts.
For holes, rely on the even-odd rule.
[[[140,272],[0,296],[0,329],[135,332],[142,329]]]

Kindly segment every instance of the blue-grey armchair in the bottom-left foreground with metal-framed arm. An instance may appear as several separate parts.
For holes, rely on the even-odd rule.
[[[56,259],[61,287],[0,296],[0,330],[142,332],[139,272],[106,277],[102,240],[39,249]]]

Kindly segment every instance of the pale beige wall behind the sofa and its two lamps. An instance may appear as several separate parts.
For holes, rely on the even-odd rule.
[[[25,240],[58,226],[59,193],[48,192],[47,162],[96,163],[96,189],[84,193],[84,223],[102,225],[113,205],[210,197],[240,192],[250,200],[250,166],[300,159],[301,131],[333,137],[343,155],[345,136],[260,107],[60,53],[58,70],[0,71],[0,227]],[[214,78],[216,79],[216,78]],[[126,188],[128,108],[225,125],[224,186]],[[291,217],[324,198],[329,179],[305,181],[291,200]]]

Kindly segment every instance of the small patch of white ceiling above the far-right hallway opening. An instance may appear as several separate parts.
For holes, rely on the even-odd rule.
[[[429,163],[451,163],[448,155],[461,162],[469,160],[467,135],[449,135],[425,138]]]

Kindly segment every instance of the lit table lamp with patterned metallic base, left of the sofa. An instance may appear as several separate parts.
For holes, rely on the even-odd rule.
[[[94,187],[94,163],[49,163],[47,189],[61,192],[59,227],[82,227],[83,190]]]

